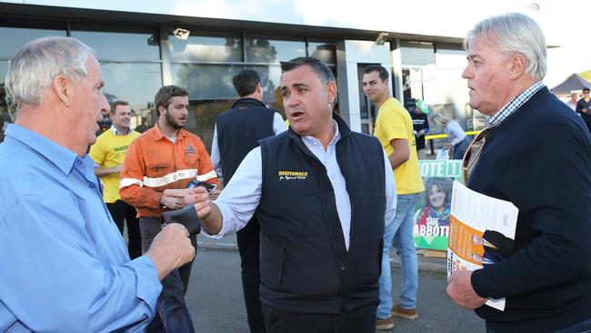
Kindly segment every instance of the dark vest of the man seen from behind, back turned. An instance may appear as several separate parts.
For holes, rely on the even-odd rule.
[[[227,184],[258,140],[273,136],[275,110],[255,98],[240,98],[215,118],[220,164]]]

